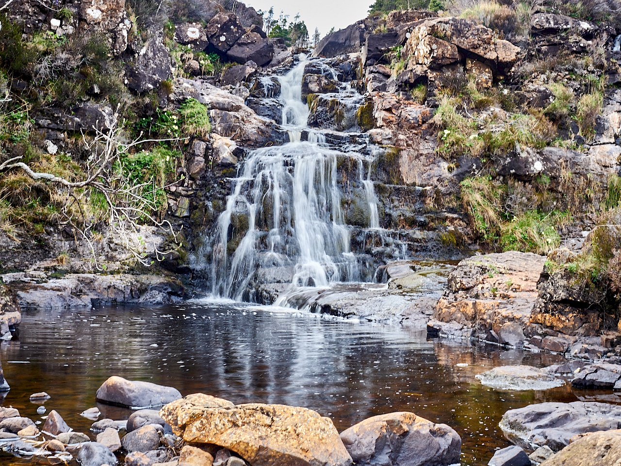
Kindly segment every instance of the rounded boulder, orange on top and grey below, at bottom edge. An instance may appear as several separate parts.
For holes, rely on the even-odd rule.
[[[448,466],[460,462],[457,432],[414,413],[365,419],[343,431],[341,439],[359,466]]]

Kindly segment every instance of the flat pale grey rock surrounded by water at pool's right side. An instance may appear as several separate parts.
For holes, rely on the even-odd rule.
[[[565,385],[564,380],[545,370],[525,365],[495,367],[476,378],[497,390],[548,390]]]

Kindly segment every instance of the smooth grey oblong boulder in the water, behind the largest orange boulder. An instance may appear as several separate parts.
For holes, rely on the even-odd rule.
[[[110,377],[97,390],[97,401],[125,406],[131,409],[162,406],[179,400],[181,393],[171,386],[156,385],[151,382],[126,380]]]

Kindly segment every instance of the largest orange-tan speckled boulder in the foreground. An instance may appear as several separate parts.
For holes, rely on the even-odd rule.
[[[253,466],[349,466],[351,457],[328,418],[306,408],[240,404],[189,395],[160,414],[184,441],[225,447]]]

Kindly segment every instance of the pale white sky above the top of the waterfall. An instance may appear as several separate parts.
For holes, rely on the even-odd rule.
[[[245,0],[244,3],[263,11],[273,6],[274,16],[278,17],[282,10],[289,15],[289,20],[299,13],[312,39],[315,27],[319,28],[321,37],[324,37],[332,27],[343,29],[365,18],[373,0]]]

